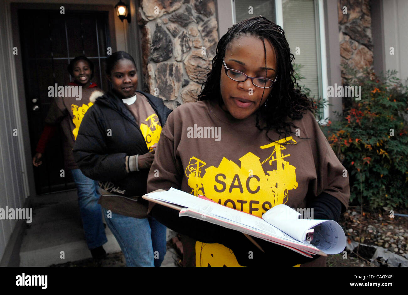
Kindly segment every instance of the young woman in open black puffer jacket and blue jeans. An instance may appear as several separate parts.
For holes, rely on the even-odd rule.
[[[105,220],[126,266],[160,266],[166,227],[147,216],[146,193],[155,144],[171,112],[162,99],[137,91],[135,61],[118,51],[106,60],[112,91],[86,113],[74,146],[82,172],[99,180]]]

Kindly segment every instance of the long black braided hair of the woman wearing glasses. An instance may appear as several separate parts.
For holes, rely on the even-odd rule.
[[[212,61],[212,69],[207,74],[206,82],[202,85],[202,91],[198,95],[198,100],[214,100],[218,98],[218,103],[220,106],[222,105],[223,101],[220,89],[222,59],[225,56],[228,44],[242,35],[251,35],[259,38],[263,43],[264,39],[268,40],[271,42],[277,57],[277,81],[273,84],[271,93],[266,102],[257,110],[255,124],[260,131],[266,130],[266,137],[273,142],[275,140],[272,140],[268,136],[268,132],[271,129],[279,134],[279,138],[276,139],[279,140],[281,135],[286,137],[290,133],[294,133],[291,127],[296,126],[292,122],[286,122],[287,118],[294,120],[301,119],[303,113],[307,110],[314,112],[313,100],[307,98],[305,94],[300,92],[299,84],[293,75],[295,71],[293,70],[292,62],[295,57],[290,53],[285,33],[283,29],[274,22],[271,22],[263,16],[257,16],[243,20],[228,29],[228,32],[221,37],[217,44],[215,57]],[[266,67],[265,43],[264,54]],[[295,88],[295,83],[297,84],[297,88]],[[262,97],[263,95],[264,93],[262,93]],[[259,126],[259,117],[266,122],[266,126],[262,128]]]

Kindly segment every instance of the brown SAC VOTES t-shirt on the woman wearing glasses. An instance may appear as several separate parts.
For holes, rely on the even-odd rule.
[[[255,114],[237,120],[217,103],[183,104],[164,126],[147,191],[174,187],[259,217],[277,204],[305,208],[306,195],[322,192],[347,207],[348,177],[315,117],[307,112],[293,123],[299,136],[277,140],[277,133],[269,131],[269,138],[277,140],[271,142],[255,126]],[[221,244],[190,241],[183,249],[184,258],[193,260],[185,265],[239,266]]]

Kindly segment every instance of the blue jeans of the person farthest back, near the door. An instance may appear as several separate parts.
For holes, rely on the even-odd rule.
[[[79,211],[86,244],[91,250],[108,242],[102,222],[102,207],[98,204],[99,185],[97,181],[82,174],[80,169],[72,169],[71,174],[77,186]]]

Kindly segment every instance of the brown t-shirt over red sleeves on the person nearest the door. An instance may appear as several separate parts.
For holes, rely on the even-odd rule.
[[[79,86],[69,85],[67,87]],[[62,131],[65,135],[62,146],[64,150],[64,165],[66,169],[79,169],[78,165],[75,163],[72,149],[78,135],[79,126],[82,119],[84,118],[86,111],[88,111],[88,109],[93,105],[93,103],[89,101],[89,98],[94,91],[98,91],[100,92],[100,95],[103,95],[102,90],[98,87],[81,87],[80,97],[75,96],[75,90],[71,91],[71,95],[55,97],[51,102],[50,109],[47,113],[47,117],[45,118],[45,122],[47,124],[61,124]],[[79,90],[77,90],[77,93],[79,93]],[[80,99],[78,100],[78,98]]]

